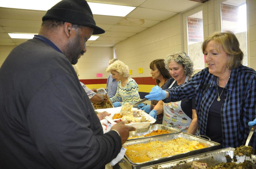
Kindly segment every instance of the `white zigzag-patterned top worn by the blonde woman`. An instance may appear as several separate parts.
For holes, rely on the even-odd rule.
[[[114,97],[110,98],[110,101],[116,102],[122,98],[123,102],[129,102],[134,104],[140,100],[139,97],[139,86],[134,79],[128,78],[127,83],[124,87],[121,87],[121,81],[117,83],[117,93]]]

